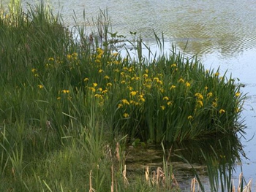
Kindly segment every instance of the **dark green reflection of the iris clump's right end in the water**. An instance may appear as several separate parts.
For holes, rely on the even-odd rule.
[[[183,143],[177,147],[181,147],[183,150],[179,150],[176,154],[186,159],[189,164],[206,166],[203,170],[204,172],[207,170],[207,177],[211,181],[210,183],[204,177],[206,174],[203,174],[200,169],[198,171],[197,167],[193,166],[199,176],[197,179],[204,183],[205,189],[208,189],[209,186],[211,186],[211,189],[219,188],[223,184],[219,180],[227,182],[224,187],[230,188],[233,172],[241,164],[241,155],[244,156],[240,139],[236,136],[226,135],[221,139],[213,137],[205,141]],[[195,173],[194,169],[192,171]],[[184,183],[187,183],[187,181],[184,181]],[[238,185],[237,180],[236,185]]]

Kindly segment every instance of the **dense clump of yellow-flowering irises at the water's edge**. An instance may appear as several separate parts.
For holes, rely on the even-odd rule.
[[[78,87],[83,92],[85,104],[93,101],[106,116],[111,114],[111,123],[124,123],[126,126],[135,126],[137,123],[141,127],[148,126],[148,118],[151,118],[154,123],[149,124],[157,130],[191,128],[203,125],[201,121],[206,116],[212,119],[206,120],[209,123],[218,118],[224,117],[224,120],[230,112],[241,111],[238,110],[241,109],[238,103],[241,93],[233,93],[237,104],[228,106],[221,98],[222,92],[218,87],[218,83],[225,83],[224,80],[220,80],[218,73],[208,71],[203,71],[199,77],[199,68],[195,64],[152,61],[151,65],[140,66],[128,57],[123,59],[119,53],[111,53],[110,50],[99,47],[89,55],[68,54],[63,60],[65,65],[57,63],[57,60],[61,61],[58,57],[48,58],[48,69],[57,71],[61,66],[61,69],[69,70],[62,72],[65,75],[60,77],[72,82],[69,89],[59,91],[57,99],[74,102],[78,92],[74,90]],[[158,66],[158,62],[162,63]],[[37,69],[31,69],[31,72],[34,76],[37,74],[41,77]],[[41,82],[38,81],[39,83]],[[44,86],[39,84],[38,88],[42,89]],[[208,125],[207,128],[212,126]]]

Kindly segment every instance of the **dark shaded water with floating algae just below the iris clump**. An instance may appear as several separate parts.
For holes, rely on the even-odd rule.
[[[151,171],[159,166],[162,167],[164,157],[165,161],[170,160],[173,173],[182,190],[187,191],[190,181],[195,177],[195,170],[200,175],[203,185],[209,188],[210,184],[206,179],[207,169],[211,170],[211,176],[215,178],[223,177],[223,170],[227,171],[227,175],[231,175],[234,168],[240,167],[241,156],[244,155],[240,138],[236,135],[166,144],[164,148],[165,153],[161,146],[129,147],[126,160],[127,170],[143,175],[146,166],[149,166]],[[238,170],[238,174],[240,171]],[[236,185],[238,185],[237,180]]]

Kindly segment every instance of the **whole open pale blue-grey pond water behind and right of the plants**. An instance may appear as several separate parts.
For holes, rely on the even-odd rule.
[[[4,0],[4,2],[7,0]],[[23,1],[33,4],[34,1]],[[113,32],[130,37],[136,31],[149,46],[154,47],[153,30],[165,34],[165,45],[173,43],[183,50],[187,41],[187,55],[197,54],[206,68],[238,77],[244,85],[242,91],[248,99],[244,104],[246,139],[256,131],[256,1],[255,0],[49,0],[56,12],[61,12],[67,26],[85,18],[95,18],[99,9],[108,7]],[[74,12],[73,12],[74,11]],[[243,139],[248,160],[243,159],[246,180],[256,183],[256,139]],[[238,170],[240,172],[240,170]]]

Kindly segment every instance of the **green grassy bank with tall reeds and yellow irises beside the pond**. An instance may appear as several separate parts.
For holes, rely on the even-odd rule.
[[[101,13],[90,35],[83,26],[69,31],[44,4],[1,7],[1,191],[159,191],[146,178],[125,180],[127,142],[242,131],[236,80],[175,47],[143,58],[140,39],[138,58],[124,57],[111,49],[123,37],[108,33]],[[174,182],[165,180],[161,191]]]

